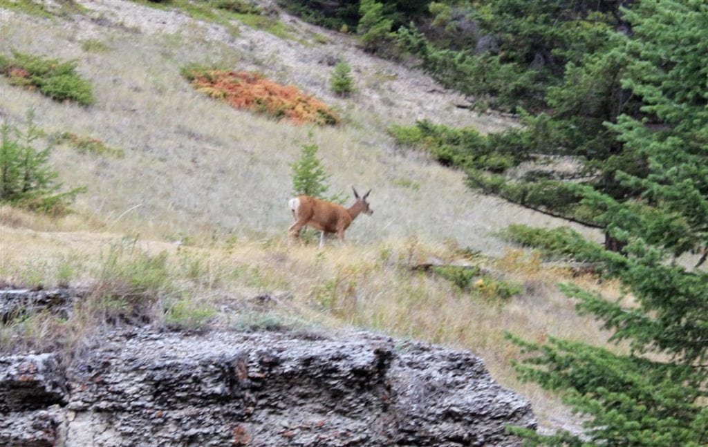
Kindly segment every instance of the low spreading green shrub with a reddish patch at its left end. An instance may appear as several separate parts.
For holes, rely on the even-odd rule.
[[[0,73],[13,85],[36,88],[58,101],[70,100],[81,105],[94,102],[91,83],[76,73],[76,62],[13,52],[13,59],[0,59]]]

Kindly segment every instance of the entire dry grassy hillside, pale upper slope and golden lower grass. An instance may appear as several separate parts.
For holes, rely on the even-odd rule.
[[[67,142],[56,147],[52,166],[60,180],[86,185],[87,192],[77,198],[74,214],[59,219],[1,209],[4,281],[103,284],[108,289],[96,290],[120,296],[118,285],[157,265],[159,281],[146,287],[170,297],[171,313],[156,324],[175,318],[185,325],[241,327],[275,318],[441,342],[482,356],[499,381],[534,400],[546,421],[562,411],[534,385],[515,380],[509,360],[517,352],[503,331],[594,343],[606,335],[556,291],[567,269],[544,266],[496,236],[509,223],[561,222],[472,194],[462,173],[403,151],[386,132],[391,124],[422,118],[480,132],[513,122],[457,108],[462,98],[418,71],[375,59],[348,36],[284,13],[277,28],[258,29],[132,1],[79,1],[76,10],[42,15],[15,3],[0,3],[0,52],[76,60],[77,71],[93,84],[95,103],[57,103],[1,76],[1,120],[21,124],[33,108],[47,135],[98,139],[123,156],[81,153]],[[333,67],[326,61],[332,58],[353,67],[358,93],[340,98],[329,90]],[[234,110],[190,87],[180,74],[190,63],[258,71],[292,84],[336,108],[342,123],[297,126]],[[375,214],[353,223],[344,247],[333,243],[319,251],[289,244],[285,236],[292,219],[290,163],[310,139],[331,173],[333,192],[349,195],[350,185],[373,190]],[[483,254],[466,255],[475,250]],[[161,252],[164,262],[154,264]],[[467,290],[411,271],[431,259],[479,265],[492,277]],[[107,269],[122,276],[108,278]],[[591,276],[578,280],[617,294],[613,284],[595,284]],[[522,293],[499,298],[488,286],[494,281],[517,284]],[[277,298],[265,309],[252,299],[263,294]],[[25,337],[30,344],[42,344],[62,329],[35,323],[1,327],[1,346],[23,331],[32,332]],[[74,342],[90,332],[73,327]]]

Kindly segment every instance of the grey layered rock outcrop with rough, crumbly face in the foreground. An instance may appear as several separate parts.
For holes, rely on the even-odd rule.
[[[0,361],[0,445],[515,446],[530,404],[469,352],[370,332],[112,332]]]

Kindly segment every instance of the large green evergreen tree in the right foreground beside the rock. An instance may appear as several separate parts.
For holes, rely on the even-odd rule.
[[[627,11],[633,35],[622,86],[641,98],[641,117],[620,115],[609,128],[646,161],[646,175],[616,173],[632,200],[590,185],[571,189],[626,256],[577,234],[537,231],[578,260],[618,278],[636,305],[623,308],[577,286],[563,291],[578,310],[604,321],[616,354],[586,344],[547,344],[513,337],[533,355],[518,364],[523,378],[561,390],[588,416],[585,439],[540,436],[553,446],[705,446],[708,444],[708,272],[677,261],[708,247],[708,4],[702,0],[644,0]],[[559,238],[564,239],[562,243]]]

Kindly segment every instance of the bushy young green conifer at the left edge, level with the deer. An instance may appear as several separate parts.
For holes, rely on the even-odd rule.
[[[57,192],[62,184],[56,180],[57,173],[47,166],[51,146],[41,151],[34,148],[33,143],[42,137],[42,131],[33,119],[34,113],[28,112],[25,132],[8,124],[1,127],[0,202],[64,214],[69,203],[86,188]]]

